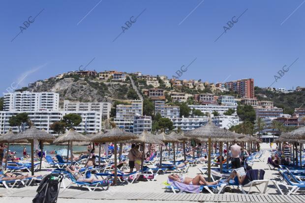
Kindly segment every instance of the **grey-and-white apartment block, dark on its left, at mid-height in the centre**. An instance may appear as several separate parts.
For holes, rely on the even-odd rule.
[[[154,115],[157,114],[167,118],[178,118],[180,117],[180,107],[166,106],[165,101],[154,101]]]

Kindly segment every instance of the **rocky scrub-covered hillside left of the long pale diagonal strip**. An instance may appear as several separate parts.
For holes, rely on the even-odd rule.
[[[60,94],[60,104],[64,99],[81,102],[113,102],[129,99],[127,93],[132,91],[130,82],[107,83],[88,78],[49,79],[41,85],[29,89],[33,92],[56,92]]]

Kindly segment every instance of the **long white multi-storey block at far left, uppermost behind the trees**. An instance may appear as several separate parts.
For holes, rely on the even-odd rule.
[[[54,92],[12,92],[4,94],[3,111],[58,111],[60,95]]]

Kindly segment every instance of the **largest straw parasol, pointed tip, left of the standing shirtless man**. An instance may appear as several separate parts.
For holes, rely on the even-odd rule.
[[[208,118],[208,122],[194,130],[185,133],[185,136],[193,139],[208,139],[209,142],[209,153],[208,153],[208,172],[209,181],[211,179],[211,142],[212,139],[218,142],[226,142],[229,139],[237,140],[243,138],[244,135],[240,135],[229,130],[220,128],[212,122],[211,116]],[[220,150],[221,151],[221,150]],[[222,156],[220,156],[220,170],[222,170]]]

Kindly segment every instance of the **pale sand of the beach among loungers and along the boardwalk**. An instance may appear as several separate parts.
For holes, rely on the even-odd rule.
[[[269,144],[261,144],[261,148],[264,150],[264,155],[261,158],[261,161],[255,161],[255,163],[253,164],[252,168],[253,169],[263,169],[265,170],[265,177],[264,179],[269,179],[269,180],[280,180],[279,179],[279,174],[276,170],[270,170],[269,166],[267,165],[267,158],[270,156],[270,145]],[[186,177],[194,177],[197,174],[201,174],[200,171],[198,170],[198,168],[202,167],[202,164],[198,164],[196,166],[190,167],[188,172],[185,174]],[[35,174],[47,174],[50,172],[50,169],[44,169],[42,172],[37,172]],[[155,181],[138,181],[135,182],[133,184],[124,184],[124,185],[119,185],[119,186],[111,186],[109,188],[108,191],[98,191],[98,193],[105,193],[107,192],[107,194],[110,194],[110,198],[112,194],[118,194],[121,192],[124,193],[160,193],[160,194],[164,194],[164,193],[172,193],[170,190],[165,190],[165,185],[163,184],[163,182],[167,181],[167,174],[159,174],[156,177]],[[206,174],[204,174],[205,177],[207,177]],[[66,182],[67,180],[64,180],[64,184],[67,185],[68,182]],[[35,194],[35,190],[37,189],[38,186],[29,186],[26,187],[26,190],[32,192],[31,194]],[[231,187],[232,188],[232,187]],[[245,190],[247,191],[248,188],[245,188]],[[14,203],[24,203],[24,202],[30,202],[33,198],[32,197],[13,197],[15,192],[19,192],[25,190],[25,188],[15,188],[12,189],[10,194],[7,194],[8,192],[6,191],[3,194],[3,190],[0,190],[0,195],[1,196],[10,196],[10,197],[1,197],[0,201],[1,202],[12,202],[14,201]],[[62,191],[62,188],[61,188]],[[80,191],[83,193],[86,193],[88,190],[85,188],[78,188],[76,186],[72,186],[69,189],[67,189],[66,191],[71,191],[71,192],[75,192],[75,191]],[[250,194],[255,194],[258,193],[257,189],[252,188],[251,190],[252,192]],[[1,194],[2,192],[2,194]],[[238,194],[242,194],[242,192],[238,189],[232,189],[233,193],[238,193]],[[87,193],[90,193],[89,191]],[[93,192],[94,194],[96,192]],[[92,194],[93,194],[92,193]],[[270,181],[269,185],[268,185],[268,190],[267,190],[267,194],[269,195],[278,195],[280,194],[277,189],[274,187],[273,183]],[[299,191],[298,194],[300,195],[304,195],[304,191]],[[90,196],[90,195],[89,195]],[[93,198],[92,198],[93,199]],[[58,202],[59,203],[97,203],[97,202],[107,202],[107,203],[114,203],[114,202],[118,202],[118,200],[91,200],[90,197],[87,199],[69,199],[69,198],[59,198]],[[120,203],[129,203],[129,202],[141,202],[141,203],[146,203],[146,202],[150,202],[150,201],[146,201],[146,200],[139,200],[139,201],[130,201],[130,200],[120,200]],[[156,201],[158,202],[158,201]],[[175,201],[172,201],[175,202]]]

